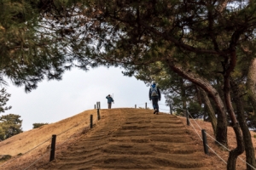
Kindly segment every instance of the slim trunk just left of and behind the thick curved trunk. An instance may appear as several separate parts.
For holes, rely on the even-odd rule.
[[[213,129],[214,135],[216,136],[217,118],[215,116],[215,111],[212,108],[212,104],[211,104],[210,99],[207,96],[207,93],[203,89],[201,89],[201,88],[200,88],[200,91],[201,91],[201,94],[203,96],[203,99],[205,100],[205,104],[207,106],[208,116],[209,116],[210,121],[212,123],[212,129]]]

